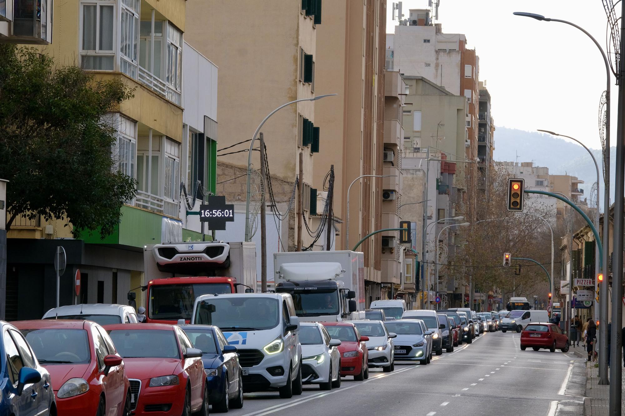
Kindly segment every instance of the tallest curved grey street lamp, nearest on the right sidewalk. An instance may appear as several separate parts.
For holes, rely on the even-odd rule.
[[[622,10],[623,12],[625,12],[625,2],[623,2],[622,6]],[[614,7],[614,6],[612,6]],[[566,21],[566,20],[561,20],[561,19],[550,19],[549,17],[544,17],[541,16],[540,14],[534,14],[534,13],[527,13],[527,12],[514,12],[514,14],[516,16],[524,16],[524,17],[532,17],[532,19],[536,19],[539,21],[545,21],[545,22],[560,22],[560,23],[564,23],[564,24],[568,24],[569,26],[573,26],[576,29],[579,29],[580,31],[582,31],[586,36],[588,36],[592,42],[594,42],[595,46],[597,47],[597,49],[599,49],[599,52],[601,52],[601,57],[603,58],[603,62],[606,66],[606,142],[605,142],[605,149],[603,152],[603,166],[604,166],[604,175],[603,175],[603,179],[604,179],[604,202],[603,202],[603,211],[604,211],[604,221],[603,221],[603,247],[606,247],[603,250],[603,255],[602,255],[602,263],[604,264],[604,274],[605,274],[605,270],[607,270],[607,262],[609,259],[609,214],[610,214],[610,89],[611,89],[611,75],[610,75],[610,62],[607,59],[606,56],[606,52],[603,51],[603,48],[601,47],[601,45],[599,44],[599,42],[597,42],[597,39],[595,39],[594,37],[592,37],[592,35],[586,31],[586,29],[577,26],[576,24]],[[625,24],[625,21],[621,22],[621,24]],[[621,45],[621,48],[625,47],[625,44]],[[620,124],[619,124],[620,126]],[[618,132],[617,132],[618,133]],[[619,147],[622,144],[622,141],[617,141],[617,147]],[[584,146],[586,147],[586,146]],[[620,149],[620,147],[619,147]],[[594,158],[593,158],[594,159]],[[617,165],[619,162],[619,157],[617,156]],[[617,166],[616,169],[616,174],[617,174],[617,178],[622,178],[622,174],[619,173],[619,170],[622,171],[622,166]],[[618,181],[618,179],[617,179]],[[618,188],[616,189],[616,193],[615,193],[615,204],[617,204],[620,208],[620,210],[618,212],[622,212],[622,182],[620,183],[621,186],[621,190],[619,190]],[[599,210],[599,181],[597,180],[597,210]],[[620,201],[619,201],[620,200]],[[616,206],[614,207],[614,212],[617,212],[616,210]],[[615,215],[615,221],[616,221],[616,216]],[[598,222],[598,220],[597,220]],[[599,227],[599,224],[597,224],[597,227]],[[617,264],[616,266],[616,270],[619,270],[620,273],[622,273],[622,221],[619,220],[618,224],[615,222],[614,223],[614,230],[621,230],[621,232],[619,232],[617,234],[617,232],[614,232],[614,241],[620,241],[621,245],[619,246],[619,248],[621,250],[616,250],[616,245],[615,245],[615,250],[614,253],[616,254],[616,259],[620,260],[621,263]],[[618,228],[617,228],[618,227]],[[619,279],[621,279],[619,277]],[[622,281],[622,280],[619,280]],[[572,290],[572,287],[571,287]],[[607,379],[607,285],[601,285],[600,290],[600,297],[599,299],[602,300],[601,304],[599,304],[599,307],[601,309],[601,314],[599,315],[601,317],[601,319],[599,319],[599,344],[602,345],[602,352],[604,352],[604,354],[599,354],[599,384],[609,384],[608,379]],[[571,297],[572,299],[572,297]],[[620,300],[619,300],[619,304],[620,304]],[[603,358],[602,358],[603,357]],[[620,383],[621,378],[619,377],[619,383]],[[616,394],[616,393],[614,393]],[[619,396],[620,397],[620,396]]]

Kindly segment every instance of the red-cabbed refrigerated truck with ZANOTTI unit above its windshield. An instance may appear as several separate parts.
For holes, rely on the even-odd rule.
[[[204,294],[256,291],[254,242],[181,242],[144,246],[146,322],[191,320],[196,298]],[[144,280],[144,281],[145,281]],[[136,292],[128,292],[134,302]]]

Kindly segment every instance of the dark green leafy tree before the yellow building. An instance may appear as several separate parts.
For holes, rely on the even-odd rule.
[[[102,237],[134,197],[134,179],[112,157],[116,130],[106,115],[133,97],[119,80],[96,81],[55,66],[36,49],[0,45],[0,177],[8,179],[7,229],[17,215],[68,219]]]

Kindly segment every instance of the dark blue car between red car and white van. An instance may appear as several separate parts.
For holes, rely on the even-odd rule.
[[[180,325],[193,346],[202,350],[209,403],[214,412],[243,407],[243,376],[239,355],[213,325]]]

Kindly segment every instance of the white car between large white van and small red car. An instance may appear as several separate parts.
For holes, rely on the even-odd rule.
[[[341,341],[333,339],[318,322],[302,322],[299,326],[302,344],[302,382],[319,384],[321,390],[341,387]]]

